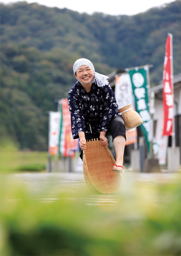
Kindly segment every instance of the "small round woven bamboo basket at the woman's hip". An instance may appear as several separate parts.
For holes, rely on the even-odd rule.
[[[121,113],[129,108],[131,108],[131,104],[120,108],[118,111],[119,111],[119,113]],[[126,130],[133,129],[133,128],[139,126],[141,123],[143,123],[140,115],[133,109],[130,109],[130,110],[126,111],[125,113],[122,113],[122,117],[123,117],[123,120],[125,123]]]

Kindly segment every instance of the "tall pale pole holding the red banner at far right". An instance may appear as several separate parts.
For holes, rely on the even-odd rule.
[[[175,112],[174,112],[174,85],[173,85],[173,35],[168,33],[170,36],[170,53],[171,53],[171,81],[172,81],[172,89],[173,89],[173,119],[172,119],[172,148],[175,148]]]

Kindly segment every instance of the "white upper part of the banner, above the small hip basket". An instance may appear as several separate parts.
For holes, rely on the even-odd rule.
[[[115,79],[115,97],[118,108],[124,107],[128,104],[132,104],[132,108],[135,108],[132,83],[129,73],[123,73],[122,75],[116,76]]]

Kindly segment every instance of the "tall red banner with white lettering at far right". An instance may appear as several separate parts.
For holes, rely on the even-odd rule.
[[[172,71],[172,35],[168,35],[165,46],[164,72],[163,72],[163,110],[164,126],[163,136],[172,135],[174,101],[173,101],[173,71]]]

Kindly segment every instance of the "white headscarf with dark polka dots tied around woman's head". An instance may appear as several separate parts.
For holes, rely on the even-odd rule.
[[[82,66],[82,65],[86,65],[86,66],[90,67],[94,72],[94,78],[90,83],[94,83],[96,81],[97,85],[100,86],[100,87],[109,84],[109,82],[107,81],[107,78],[109,78],[109,77],[106,76],[106,75],[101,75],[101,74],[95,72],[94,65],[88,59],[78,59],[78,60],[76,60],[76,62],[74,63],[74,67],[73,67],[74,74],[78,70],[78,68],[80,68],[80,66]],[[84,84],[84,83],[82,83],[82,84]],[[87,85],[87,84],[84,84],[84,85]]]

